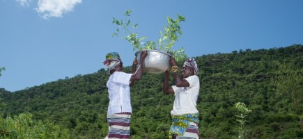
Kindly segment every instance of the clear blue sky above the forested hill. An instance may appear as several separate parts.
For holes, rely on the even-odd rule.
[[[132,10],[137,33],[160,37],[166,17],[180,23],[183,34],[173,49],[189,57],[270,49],[303,44],[302,0],[0,0],[0,88],[11,92],[92,74],[116,51],[131,65],[135,51],[116,31],[113,17]]]

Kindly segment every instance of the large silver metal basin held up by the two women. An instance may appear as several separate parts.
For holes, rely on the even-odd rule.
[[[147,51],[148,56],[145,58],[143,66],[143,71],[152,74],[161,74],[169,68],[169,58],[171,54],[164,51],[158,50],[143,50]],[[135,56],[137,56],[138,63],[140,63],[141,51],[137,51]]]

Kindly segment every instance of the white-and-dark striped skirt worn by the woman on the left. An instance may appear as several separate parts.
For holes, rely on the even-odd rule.
[[[106,138],[130,138],[131,113],[116,113],[107,116],[109,133]]]

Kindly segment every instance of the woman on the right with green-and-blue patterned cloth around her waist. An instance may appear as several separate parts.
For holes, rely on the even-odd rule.
[[[170,64],[175,85],[169,87],[169,69],[165,73],[163,83],[163,92],[175,95],[169,138],[199,138],[199,111],[196,109],[196,101],[200,81],[196,76],[199,70],[196,60],[187,58],[181,70],[181,77],[178,75],[176,60],[172,57]]]

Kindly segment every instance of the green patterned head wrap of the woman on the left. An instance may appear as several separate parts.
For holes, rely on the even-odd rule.
[[[113,70],[116,67],[116,65],[122,62],[117,52],[108,53],[107,56],[105,56],[105,58],[106,60],[104,60],[103,64],[107,67],[108,72]]]

